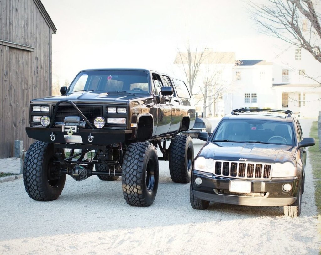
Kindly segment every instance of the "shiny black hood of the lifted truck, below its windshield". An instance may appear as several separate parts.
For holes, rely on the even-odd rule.
[[[77,92],[70,95],[65,96],[56,96],[56,97],[45,97],[45,98],[37,98],[32,99],[31,103],[56,103],[60,100],[70,100],[73,103],[78,104],[126,104],[128,100],[142,98],[149,96],[148,94],[137,94],[132,95],[129,93],[122,92],[108,92],[108,93],[97,93],[95,91],[84,91]]]

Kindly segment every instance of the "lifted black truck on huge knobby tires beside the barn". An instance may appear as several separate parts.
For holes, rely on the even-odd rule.
[[[150,206],[158,160],[169,160],[174,182],[190,181],[193,143],[179,133],[193,128],[195,108],[183,81],[146,69],[95,69],[79,72],[60,92],[30,102],[26,132],[38,141],[27,151],[23,181],[32,199],[57,199],[66,174],[76,181],[122,176],[126,202]]]

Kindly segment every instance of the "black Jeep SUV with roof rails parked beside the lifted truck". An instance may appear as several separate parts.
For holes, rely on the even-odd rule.
[[[306,149],[292,112],[235,109],[222,118],[193,162],[190,202],[206,209],[210,201],[250,206],[283,206],[284,214],[301,213]]]

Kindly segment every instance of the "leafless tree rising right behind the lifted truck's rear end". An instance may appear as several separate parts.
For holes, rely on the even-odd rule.
[[[202,64],[205,57],[205,49],[201,51],[191,52],[190,45],[188,44],[186,47],[187,52],[181,52],[178,49],[178,57],[176,57],[174,64],[181,64],[184,74],[186,76],[186,80],[189,86],[189,91],[193,98],[193,88],[195,85],[195,80],[199,72],[200,65]]]

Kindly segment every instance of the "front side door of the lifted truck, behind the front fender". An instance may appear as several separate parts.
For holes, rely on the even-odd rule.
[[[153,136],[163,135],[169,132],[171,122],[171,107],[166,101],[166,97],[160,94],[161,88],[164,86],[160,75],[152,72],[152,86],[154,86],[153,94],[155,96],[155,105],[152,108],[157,110],[157,118],[154,119],[154,127],[156,131]],[[156,122],[156,123],[155,123]]]

